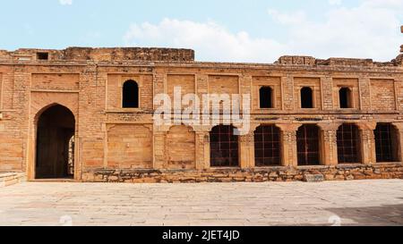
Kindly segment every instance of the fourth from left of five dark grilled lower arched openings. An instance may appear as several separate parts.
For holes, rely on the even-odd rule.
[[[339,164],[360,163],[360,137],[356,125],[341,125],[337,138]]]

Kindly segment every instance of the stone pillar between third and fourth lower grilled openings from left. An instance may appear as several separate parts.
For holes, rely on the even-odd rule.
[[[339,123],[319,123],[321,128],[321,162],[324,165],[337,165]]]

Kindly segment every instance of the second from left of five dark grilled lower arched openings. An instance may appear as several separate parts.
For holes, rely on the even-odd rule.
[[[259,126],[254,132],[255,164],[262,166],[278,166],[280,159],[280,131],[274,125]]]

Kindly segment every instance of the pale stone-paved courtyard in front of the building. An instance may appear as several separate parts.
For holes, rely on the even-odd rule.
[[[403,181],[0,188],[0,225],[403,225]]]

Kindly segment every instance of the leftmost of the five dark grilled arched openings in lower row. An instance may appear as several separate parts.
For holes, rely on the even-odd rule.
[[[210,131],[210,161],[212,167],[236,167],[238,162],[238,136],[235,127],[219,125]]]

